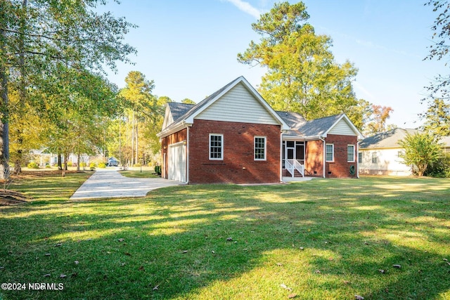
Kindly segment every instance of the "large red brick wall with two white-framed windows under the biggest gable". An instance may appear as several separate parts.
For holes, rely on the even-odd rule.
[[[210,133],[224,135],[224,160],[210,160]],[[189,183],[280,181],[279,125],[194,121],[189,129]],[[266,160],[254,160],[254,138],[266,136]]]

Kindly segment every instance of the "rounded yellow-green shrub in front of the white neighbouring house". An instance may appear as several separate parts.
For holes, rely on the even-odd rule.
[[[426,132],[409,134],[399,141],[399,145],[404,148],[399,157],[404,159],[404,164],[412,166],[418,176],[423,176],[428,166],[443,155],[442,145]]]

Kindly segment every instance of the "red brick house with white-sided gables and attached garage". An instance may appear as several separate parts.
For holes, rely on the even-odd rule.
[[[345,114],[276,112],[244,77],[197,105],[168,103],[162,177],[185,183],[276,183],[358,176],[362,135]]]

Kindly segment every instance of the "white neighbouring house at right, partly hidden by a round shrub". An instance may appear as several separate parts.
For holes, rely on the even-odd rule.
[[[408,134],[418,133],[417,129],[396,128],[383,133],[364,138],[359,144],[359,173],[371,175],[409,176],[411,166],[404,164],[399,157],[403,148],[399,141]],[[440,140],[444,144],[444,151],[450,152],[450,136]]]

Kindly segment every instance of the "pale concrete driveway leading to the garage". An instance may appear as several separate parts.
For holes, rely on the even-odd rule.
[[[143,197],[148,191],[171,185],[179,181],[162,178],[129,178],[122,176],[118,168],[97,169],[82,186],[73,193],[70,200],[113,197]]]

